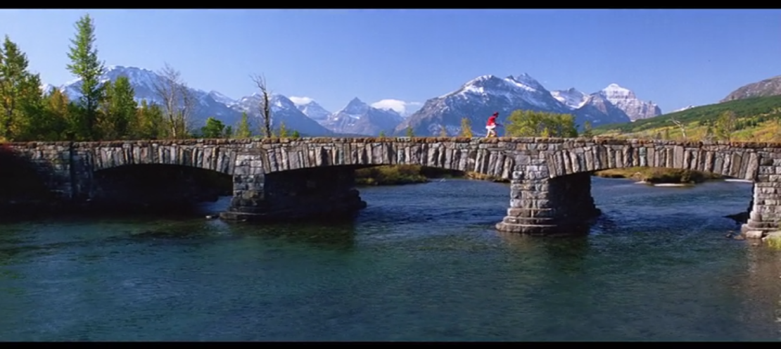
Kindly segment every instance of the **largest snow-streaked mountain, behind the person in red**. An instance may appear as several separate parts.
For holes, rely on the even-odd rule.
[[[412,126],[415,134],[436,135],[444,128],[452,136],[460,131],[461,119],[468,118],[473,134],[484,135],[483,125],[492,112],[499,112],[499,119],[504,122],[518,109],[569,113],[579,126],[586,121],[592,126],[629,122],[626,115],[615,112],[609,104],[604,105],[604,98],[587,96],[575,89],[547,91],[526,73],[505,78],[484,75],[457,91],[426,101],[422,109],[396,127],[395,134],[404,134]],[[499,134],[503,132],[500,128]]]

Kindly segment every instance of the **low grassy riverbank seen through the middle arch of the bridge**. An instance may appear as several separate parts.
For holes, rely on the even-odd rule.
[[[463,172],[451,169],[436,169],[418,165],[376,166],[355,170],[355,183],[359,186],[387,186],[426,183],[432,179],[459,178],[469,180],[490,180],[508,183],[509,180],[486,176],[481,173]]]

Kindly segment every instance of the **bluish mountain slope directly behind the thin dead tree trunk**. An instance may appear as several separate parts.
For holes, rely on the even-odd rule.
[[[260,94],[251,94],[242,97],[230,107],[237,112],[247,112],[251,116],[253,132],[257,132],[262,125],[260,117]],[[306,136],[328,136],[333,132],[320,126],[315,120],[305,116],[301,110],[289,98],[282,94],[272,94],[269,103],[271,104],[271,126],[274,130],[279,130],[280,124],[284,123],[287,130],[297,130]]]

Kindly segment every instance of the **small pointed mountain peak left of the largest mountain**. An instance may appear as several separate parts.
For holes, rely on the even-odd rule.
[[[334,112],[321,124],[338,134],[379,135],[391,134],[394,128],[404,120],[392,109],[377,109],[358,98],[353,98],[338,112]]]

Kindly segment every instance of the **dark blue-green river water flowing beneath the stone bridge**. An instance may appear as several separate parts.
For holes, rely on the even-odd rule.
[[[725,237],[750,183],[593,183],[587,237],[497,233],[508,187],[473,180],[364,188],[341,226],[6,223],[0,340],[781,337],[781,254]]]

